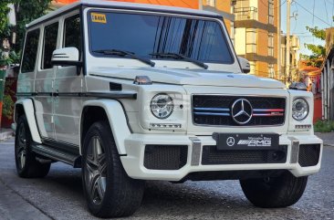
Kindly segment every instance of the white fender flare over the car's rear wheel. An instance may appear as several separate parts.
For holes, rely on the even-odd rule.
[[[35,118],[35,107],[34,107],[34,103],[33,100],[31,99],[23,99],[23,100],[17,100],[16,101],[16,106],[21,105],[23,106],[23,110],[25,111],[26,114],[26,120],[27,123],[29,125],[29,129],[30,129],[30,133],[31,133],[31,138],[33,141],[36,141],[38,143],[42,143],[40,136],[39,136],[39,132],[37,129],[37,121]],[[14,119],[17,119],[16,116],[16,106],[15,106],[15,110],[14,110]],[[17,122],[17,121],[15,121]]]

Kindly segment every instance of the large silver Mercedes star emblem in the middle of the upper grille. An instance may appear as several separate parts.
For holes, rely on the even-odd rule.
[[[235,100],[231,108],[232,119],[237,124],[246,124],[252,119],[253,108],[249,100]]]

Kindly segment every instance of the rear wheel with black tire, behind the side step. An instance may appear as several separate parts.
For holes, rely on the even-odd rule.
[[[15,158],[18,176],[23,178],[42,178],[50,170],[51,163],[41,163],[36,160],[36,153],[31,151],[31,133],[26,120],[22,115],[17,120]]]

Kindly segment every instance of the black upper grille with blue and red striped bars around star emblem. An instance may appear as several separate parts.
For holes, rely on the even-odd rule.
[[[252,119],[242,125],[231,115],[232,105],[239,99],[248,100],[253,108]],[[285,115],[285,98],[193,95],[193,123],[196,125],[275,126],[284,124]]]

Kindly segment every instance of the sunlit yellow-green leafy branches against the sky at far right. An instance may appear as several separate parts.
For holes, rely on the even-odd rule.
[[[325,40],[326,32],[324,29],[319,29],[318,26],[310,27],[306,26],[307,30],[312,34],[312,36],[317,37],[318,39]],[[326,48],[321,45],[313,44],[304,44],[312,54],[311,55],[301,55],[301,58],[307,61],[308,66],[320,67],[322,64],[323,58],[326,57]]]

